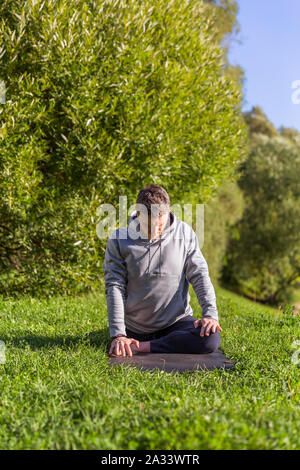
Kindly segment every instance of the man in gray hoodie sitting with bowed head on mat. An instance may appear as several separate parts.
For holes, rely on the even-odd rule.
[[[103,263],[110,355],[203,354],[218,349],[222,328],[196,233],[170,210],[168,193],[147,184],[128,227],[115,230]],[[202,307],[193,317],[192,284]]]

